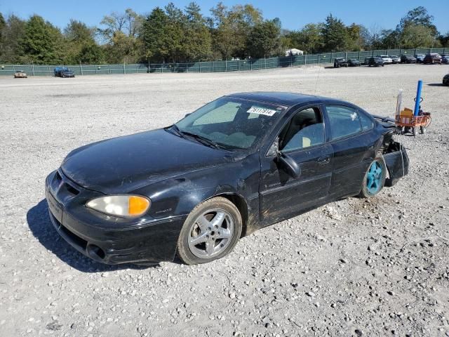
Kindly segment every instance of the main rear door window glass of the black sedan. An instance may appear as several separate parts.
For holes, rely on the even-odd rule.
[[[331,139],[351,136],[362,131],[357,110],[341,105],[328,105],[326,111],[330,122]]]

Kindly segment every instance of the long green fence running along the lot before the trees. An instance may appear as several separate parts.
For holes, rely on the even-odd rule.
[[[449,53],[449,48],[388,49],[377,51],[345,51],[311,55],[295,55],[276,58],[250,60],[189,62],[189,63],[140,63],[136,65],[67,65],[75,75],[99,74],[138,74],[163,72],[237,72],[262,70],[300,65],[333,63],[335,58],[350,58],[359,61],[376,55],[416,55],[427,53]],[[1,65],[0,76],[13,76],[16,71],[26,72],[28,76],[54,76],[53,70],[61,65]]]

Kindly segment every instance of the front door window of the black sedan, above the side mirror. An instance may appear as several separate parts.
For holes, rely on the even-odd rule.
[[[290,152],[324,143],[324,124],[319,107],[296,112],[279,135],[279,150]]]

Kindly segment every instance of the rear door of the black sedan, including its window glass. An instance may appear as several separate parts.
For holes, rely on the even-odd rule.
[[[366,169],[375,157],[377,136],[373,119],[355,107],[326,105],[333,174],[329,194],[333,199],[360,191]]]

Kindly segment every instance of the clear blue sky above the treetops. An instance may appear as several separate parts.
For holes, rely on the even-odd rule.
[[[173,0],[173,3],[184,8],[190,1]],[[217,1],[197,0],[205,15]],[[284,28],[299,29],[309,22],[323,21],[329,13],[341,18],[346,24],[362,23],[368,29],[377,25],[380,28],[396,27],[400,18],[407,11],[417,6],[425,6],[440,32],[449,32],[449,1],[437,0],[392,0],[392,1],[352,1],[352,0],[263,0],[263,1],[222,1],[227,6],[234,4],[253,4],[260,8],[265,18],[280,18]],[[14,13],[27,18],[34,13],[43,16],[58,27],[65,27],[71,18],[98,25],[103,15],[112,11],[123,12],[133,8],[138,13],[148,13],[156,6],[165,6],[168,1],[160,0],[0,0],[0,12],[4,15]],[[377,6],[379,5],[379,6]]]

